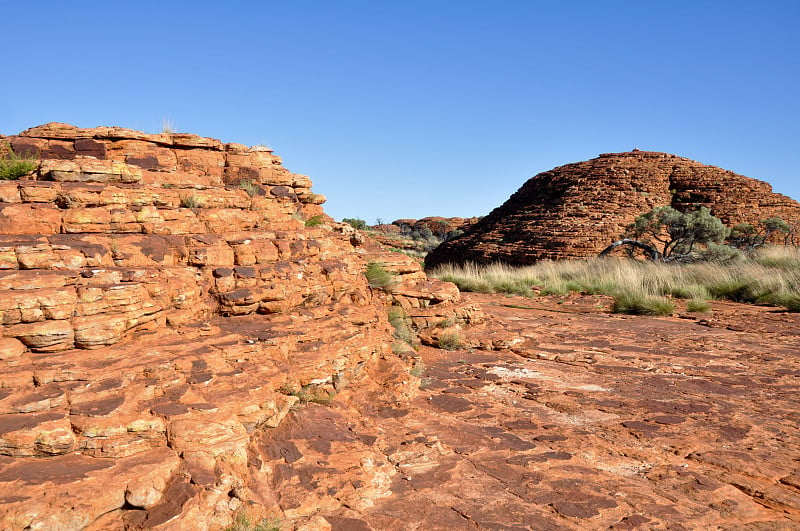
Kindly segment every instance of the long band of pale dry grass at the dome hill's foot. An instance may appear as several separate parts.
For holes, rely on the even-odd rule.
[[[792,247],[766,247],[750,258],[725,264],[596,258],[527,267],[446,265],[430,275],[454,282],[462,291],[610,295],[615,311],[624,313],[664,315],[672,311],[671,298],[732,300],[800,311],[800,250]]]

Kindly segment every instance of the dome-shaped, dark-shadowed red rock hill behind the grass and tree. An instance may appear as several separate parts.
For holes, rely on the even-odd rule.
[[[664,205],[706,206],[729,226],[800,220],[800,204],[765,182],[667,153],[607,153],[531,178],[466,234],[429,253],[426,265],[597,256],[636,216]]]

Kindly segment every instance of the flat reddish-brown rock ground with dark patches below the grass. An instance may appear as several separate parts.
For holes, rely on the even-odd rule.
[[[466,335],[511,348],[423,347],[410,402],[297,410],[275,434],[293,440],[285,509],[291,485],[379,484],[346,457],[369,445],[396,467],[388,496],[331,512],[333,529],[800,529],[800,314],[466,297],[487,316]]]

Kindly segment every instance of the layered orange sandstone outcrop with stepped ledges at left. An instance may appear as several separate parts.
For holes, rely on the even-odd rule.
[[[359,485],[282,503],[266,432],[378,365],[408,376],[384,306],[435,315],[454,286],[398,259],[372,290],[392,254],[267,148],[55,123],[0,142],[41,158],[0,181],[0,528],[220,529],[383,495],[395,469],[365,445]]]

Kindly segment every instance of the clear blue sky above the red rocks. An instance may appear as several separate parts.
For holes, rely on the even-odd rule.
[[[800,199],[798,0],[3,2],[0,133],[268,144],[337,219],[488,213],[634,147]]]

